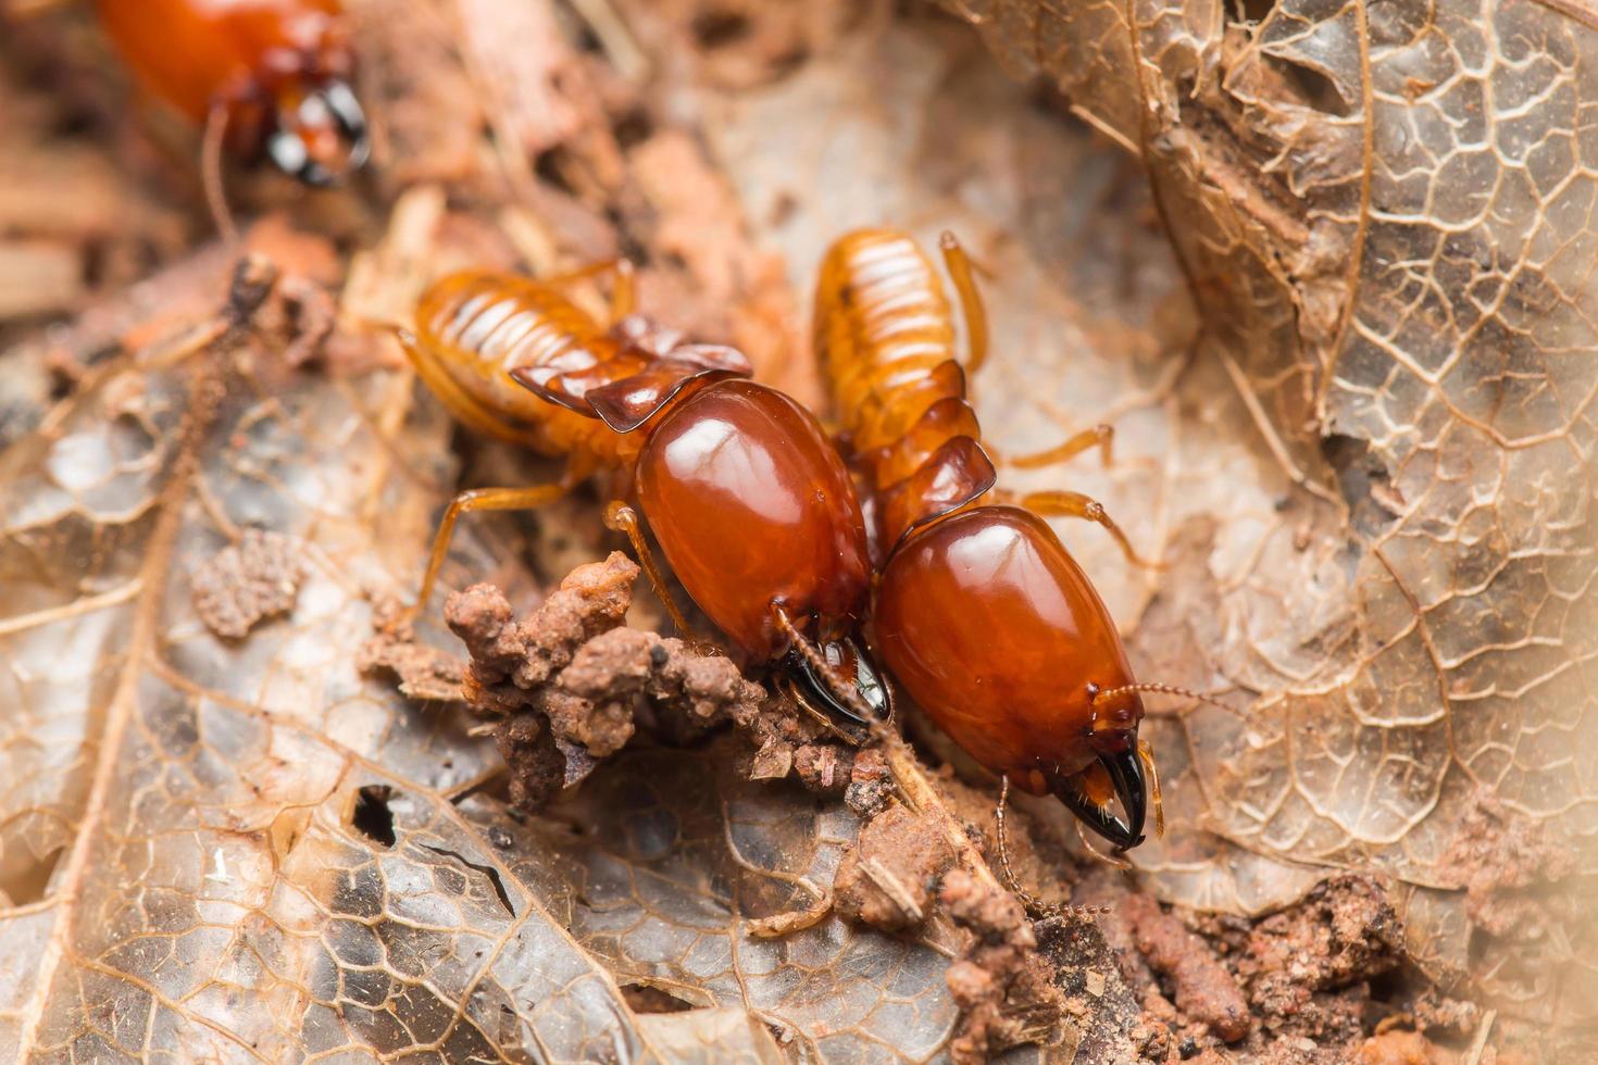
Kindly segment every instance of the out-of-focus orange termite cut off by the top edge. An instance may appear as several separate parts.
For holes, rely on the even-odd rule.
[[[267,155],[328,185],[368,155],[366,115],[339,0],[97,0],[139,81],[205,126],[201,169],[217,228],[233,238],[222,150]]]

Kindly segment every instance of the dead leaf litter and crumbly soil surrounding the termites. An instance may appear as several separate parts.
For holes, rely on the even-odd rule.
[[[294,216],[252,230],[273,284],[229,297],[221,249],[113,227],[137,265],[81,268],[86,289],[38,271],[67,281],[0,321],[0,1046],[1167,1060],[1242,1035],[1248,1060],[1491,1060],[1536,1036],[1521,1022],[1582,1019],[1590,500],[1561,489],[1590,453],[1569,353],[1592,182],[1577,131],[1544,120],[1587,96],[1579,30],[1531,5],[1486,37],[1446,6],[1128,26],[1109,5],[954,5],[1040,89],[925,11],[524,3],[540,32],[507,49],[500,6],[352,5],[374,184],[230,174],[243,211]],[[29,34],[72,72],[62,99],[115,123],[81,21]],[[3,54],[29,121],[0,137],[66,147],[59,86]],[[1491,152],[1459,148],[1449,121],[1512,97]],[[144,150],[137,131],[72,148],[85,174]],[[96,195],[192,204],[187,164]],[[1443,195],[1494,166],[1493,203]],[[50,254],[93,262],[105,217],[161,211],[67,217]],[[374,329],[430,276],[626,251],[646,308],[817,399],[805,281],[833,235],[884,220],[954,228],[994,275],[976,386],[1000,449],[1115,422],[1117,465],[1072,487],[1171,568],[1061,535],[1139,671],[1253,704],[1246,728],[1151,723],[1173,825],[1138,883],[1072,856],[1061,811],[1013,811],[1034,894],[1107,917],[1020,920],[981,861],[992,789],[936,736],[916,726],[922,757],[970,782],[906,795],[903,762],[773,712],[649,631],[646,604],[526,688],[483,683],[433,623],[372,650],[460,482],[452,436],[467,482],[540,476],[452,434]],[[615,546],[599,501],[471,522],[446,573],[500,591],[457,629],[559,602],[572,562]],[[273,570],[243,564],[260,536],[292,544],[297,586],[240,608]],[[722,714],[714,685],[660,687],[657,648],[719,671],[740,736],[690,734]],[[495,734],[372,664],[492,704]],[[545,768],[507,778],[502,750]]]

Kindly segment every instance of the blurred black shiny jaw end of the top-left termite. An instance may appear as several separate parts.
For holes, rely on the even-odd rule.
[[[344,78],[278,93],[267,155],[284,174],[324,187],[360,169],[371,150],[366,112]]]

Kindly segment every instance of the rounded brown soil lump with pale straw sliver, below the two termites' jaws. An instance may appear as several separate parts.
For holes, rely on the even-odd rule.
[[[893,803],[860,830],[833,878],[839,915],[896,932],[932,913],[932,897],[954,864],[938,819]]]

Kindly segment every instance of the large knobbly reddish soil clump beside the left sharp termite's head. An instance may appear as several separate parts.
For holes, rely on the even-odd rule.
[[[492,584],[449,597],[444,620],[471,658],[462,695],[492,723],[518,806],[535,810],[582,781],[626,746],[641,717],[682,739],[761,715],[765,688],[730,659],[622,624],[638,575],[612,552],[572,570],[523,620]]]

